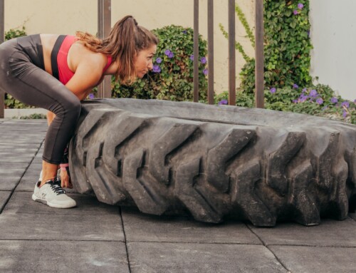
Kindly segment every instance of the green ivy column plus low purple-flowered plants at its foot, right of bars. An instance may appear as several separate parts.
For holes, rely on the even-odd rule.
[[[356,124],[356,101],[342,99],[329,86],[313,86],[310,77],[309,0],[264,0],[264,9],[265,108]],[[251,29],[237,4],[236,14],[254,46]],[[227,38],[229,34],[221,25],[220,28]],[[255,59],[248,57],[238,42],[236,49],[246,61],[241,71],[241,86],[236,92],[236,105],[252,108],[255,101]],[[215,102],[227,104],[228,97],[229,93],[223,92],[215,96]]]

